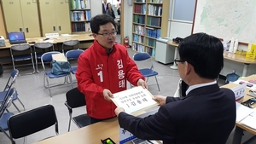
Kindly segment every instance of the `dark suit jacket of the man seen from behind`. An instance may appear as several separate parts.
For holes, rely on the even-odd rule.
[[[168,97],[147,118],[119,113],[119,125],[144,140],[164,144],[225,144],[236,123],[235,94],[218,84],[193,89],[184,98]]]

